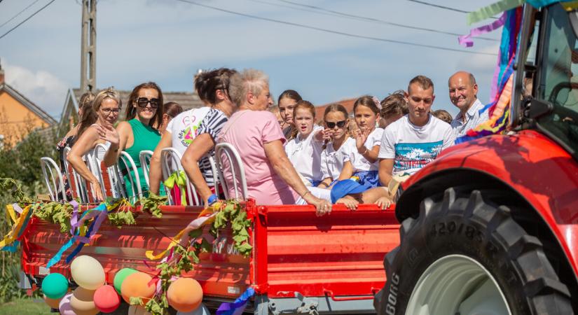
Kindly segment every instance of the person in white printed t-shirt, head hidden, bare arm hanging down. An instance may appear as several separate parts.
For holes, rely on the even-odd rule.
[[[186,148],[188,148],[188,145],[197,137],[198,127],[210,109],[211,108],[207,106],[198,109],[189,109],[188,111],[179,113],[177,117],[172,118],[169,122],[151,158],[151,165],[149,166],[149,190],[151,190],[151,192],[158,194],[159,183],[162,177],[160,170],[160,151],[162,151],[163,148],[172,147],[182,156]]]

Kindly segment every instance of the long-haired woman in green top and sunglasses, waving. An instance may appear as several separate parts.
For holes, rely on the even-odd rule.
[[[153,126],[160,126],[163,123],[163,92],[156,83],[147,82],[137,85],[128,97],[128,105],[125,113],[126,121],[118,124],[116,131],[111,126],[106,127],[106,134],[103,139],[111,142],[111,147],[104,155],[106,167],[114,165],[121,152],[125,151],[135,162],[139,181],[144,195],[149,195],[149,188],[146,186],[144,172],[141,167],[139,154],[141,151],[153,151],[160,141],[160,133]],[[132,191],[130,176],[135,178],[134,171],[128,171],[124,163],[120,163],[119,168],[123,172],[125,188],[128,196],[134,196]],[[160,190],[163,192],[163,190]]]

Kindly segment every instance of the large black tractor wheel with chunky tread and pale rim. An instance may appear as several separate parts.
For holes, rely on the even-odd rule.
[[[449,188],[422,201],[384,260],[379,315],[573,314],[570,292],[510,209]]]

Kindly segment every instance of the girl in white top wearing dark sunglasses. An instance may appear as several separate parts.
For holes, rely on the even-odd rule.
[[[348,111],[341,104],[331,104],[323,114],[325,128],[329,131],[331,142],[324,145],[321,153],[321,172],[323,181],[319,188],[329,188],[337,181],[345,157],[357,151],[355,139],[348,137]]]

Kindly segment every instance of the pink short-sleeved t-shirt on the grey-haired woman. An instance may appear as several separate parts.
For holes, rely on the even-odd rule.
[[[230,116],[217,138],[219,143],[233,145],[245,167],[247,193],[257,204],[295,204],[298,194],[285,183],[267,159],[263,144],[285,137],[277,118],[269,111],[237,111]],[[223,160],[223,176],[229,187],[229,195],[234,196],[233,176],[226,157]]]

